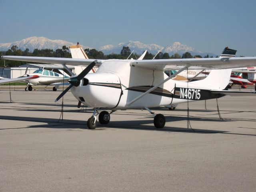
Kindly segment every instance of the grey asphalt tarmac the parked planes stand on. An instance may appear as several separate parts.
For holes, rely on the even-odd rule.
[[[60,93],[0,90],[0,192],[256,191],[256,95],[219,98],[223,120],[216,100],[190,102],[191,128],[180,104],[152,109],[162,129],[126,110],[88,130],[92,109],[68,92],[62,120]]]

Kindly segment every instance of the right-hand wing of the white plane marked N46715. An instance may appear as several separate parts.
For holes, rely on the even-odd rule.
[[[256,57],[134,60],[131,65],[151,70],[177,70],[186,65],[190,70],[227,69],[256,66]]]

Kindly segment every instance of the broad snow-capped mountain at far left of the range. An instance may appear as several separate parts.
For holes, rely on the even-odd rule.
[[[71,46],[76,45],[76,43],[67,42],[64,40],[50,40],[46,37],[29,37],[26,39],[22,39],[20,41],[12,42],[12,43],[1,43],[0,44],[0,51],[6,51],[10,49],[13,45],[18,46],[19,49],[25,50],[28,48],[30,52],[34,49],[62,49],[62,46]],[[90,48],[88,46],[84,46],[84,48]]]

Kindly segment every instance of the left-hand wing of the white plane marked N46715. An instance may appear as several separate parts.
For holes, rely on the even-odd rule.
[[[95,59],[73,59],[73,58],[56,58],[56,57],[28,57],[28,56],[1,56],[3,59],[15,61],[38,62],[48,64],[65,64],[65,65],[89,65]],[[102,60],[96,60],[96,66],[100,66]]]

